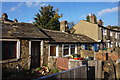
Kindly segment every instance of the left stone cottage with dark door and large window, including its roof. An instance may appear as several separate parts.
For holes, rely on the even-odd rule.
[[[2,68],[35,68],[43,62],[43,43],[48,37],[29,23],[1,25]]]

